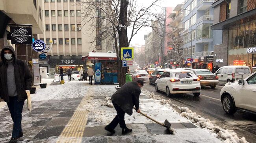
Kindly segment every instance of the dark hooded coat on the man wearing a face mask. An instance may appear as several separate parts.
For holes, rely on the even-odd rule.
[[[9,49],[13,53],[15,53],[13,47],[5,46],[0,54],[2,62],[0,62],[0,96],[4,101],[9,102],[9,95],[7,89],[7,67],[8,64],[6,59],[4,58],[4,49]],[[27,94],[25,90],[30,90],[32,85],[32,75],[30,73],[30,69],[22,60],[16,58],[15,54],[13,54],[13,65],[14,65],[14,76],[16,83],[16,90],[18,93],[18,101],[26,100]]]

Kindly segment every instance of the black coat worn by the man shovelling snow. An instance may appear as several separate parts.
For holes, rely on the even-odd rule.
[[[112,95],[111,100],[128,115],[132,115],[134,105],[136,110],[139,109],[139,94],[141,94],[141,89],[137,83],[128,82]]]

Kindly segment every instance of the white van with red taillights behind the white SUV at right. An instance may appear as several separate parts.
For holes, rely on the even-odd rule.
[[[245,79],[251,72],[248,66],[229,65],[219,68],[215,74],[219,76],[219,83],[228,83]]]

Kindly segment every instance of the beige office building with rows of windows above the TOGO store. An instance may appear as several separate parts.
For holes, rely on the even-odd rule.
[[[99,35],[100,18],[89,20],[83,17],[82,11],[86,11],[83,0],[42,0],[42,5],[43,34],[39,39],[50,45],[52,51],[40,61],[41,67],[80,70],[86,68],[82,56],[92,51],[112,50],[112,45],[107,45],[107,40],[102,40]],[[100,17],[101,11],[95,10],[93,14]],[[91,29],[92,26],[95,28]]]

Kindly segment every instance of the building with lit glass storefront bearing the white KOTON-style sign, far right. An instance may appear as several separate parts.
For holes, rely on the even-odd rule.
[[[256,67],[256,0],[213,4],[214,65]]]

